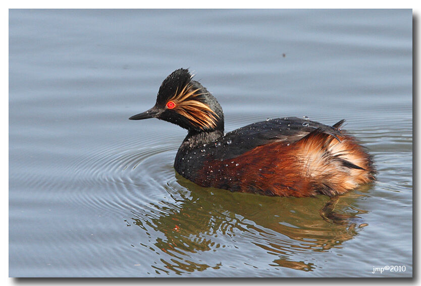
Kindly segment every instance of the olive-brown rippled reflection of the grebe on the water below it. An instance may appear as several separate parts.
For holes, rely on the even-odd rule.
[[[362,196],[358,192],[331,199],[266,197],[201,188],[178,174],[176,178],[177,182],[168,185],[172,203],[144,206],[126,219],[128,225],[138,225],[149,236],[150,245],[141,242],[142,246],[169,255],[161,259],[162,267],[152,265],[157,273],[218,269],[224,265],[221,259],[192,257],[224,248],[240,249],[244,257],[250,252],[252,257],[253,249],[259,253],[255,246],[274,256],[264,261],[266,265],[311,271],[317,265],[305,262],[309,252],[340,248],[367,225],[359,216],[367,211],[353,206]],[[151,228],[154,235],[150,235]],[[261,265],[262,261],[244,261],[253,263]]]

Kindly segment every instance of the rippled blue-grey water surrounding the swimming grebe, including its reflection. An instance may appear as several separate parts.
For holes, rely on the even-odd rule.
[[[378,181],[329,200],[185,180],[186,131],[128,120],[181,67],[226,131],[346,119]],[[411,10],[10,10],[9,80],[10,276],[412,275]]]

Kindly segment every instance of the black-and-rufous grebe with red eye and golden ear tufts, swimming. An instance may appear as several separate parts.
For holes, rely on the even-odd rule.
[[[155,105],[131,120],[157,118],[188,130],[174,167],[202,187],[268,196],[335,196],[375,180],[372,156],[341,129],[277,118],[224,134],[217,99],[186,69],[162,83]]]

